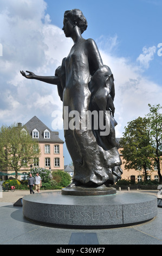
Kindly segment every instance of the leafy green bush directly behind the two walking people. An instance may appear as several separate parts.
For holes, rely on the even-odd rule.
[[[36,173],[38,173],[41,177],[42,182],[46,183],[49,182],[52,178],[50,170],[46,169],[46,168],[39,168],[39,167],[35,167],[35,168],[31,168],[29,174],[32,174],[32,176],[35,178]]]

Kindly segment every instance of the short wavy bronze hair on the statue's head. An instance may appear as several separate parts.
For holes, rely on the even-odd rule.
[[[69,17],[70,20],[72,20],[75,23],[75,25],[81,29],[81,33],[86,31],[88,23],[81,10],[73,9],[70,11],[65,11],[64,17],[65,18]]]

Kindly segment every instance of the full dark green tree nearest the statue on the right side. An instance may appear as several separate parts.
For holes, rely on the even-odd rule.
[[[153,163],[153,147],[151,145],[150,127],[147,118],[137,118],[125,127],[124,136],[120,141],[126,169],[144,169],[147,179],[147,167]]]

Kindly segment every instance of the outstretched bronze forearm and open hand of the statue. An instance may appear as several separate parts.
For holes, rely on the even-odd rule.
[[[25,74],[24,71],[20,71],[22,76],[28,78],[28,79],[35,79],[35,80],[39,80],[45,83],[51,83],[51,84],[58,84],[59,83],[59,77],[57,76],[37,76],[35,75],[33,72],[30,71],[26,71],[27,73],[29,73],[29,75]]]

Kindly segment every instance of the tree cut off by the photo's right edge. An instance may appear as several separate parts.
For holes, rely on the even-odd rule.
[[[154,162],[157,163],[158,167],[158,175],[160,184],[162,184],[162,176],[160,173],[160,157],[162,156],[162,114],[160,113],[160,109],[162,107],[160,104],[151,106],[150,113],[147,114],[149,126],[150,126],[150,136],[151,136],[151,144],[154,148]]]

